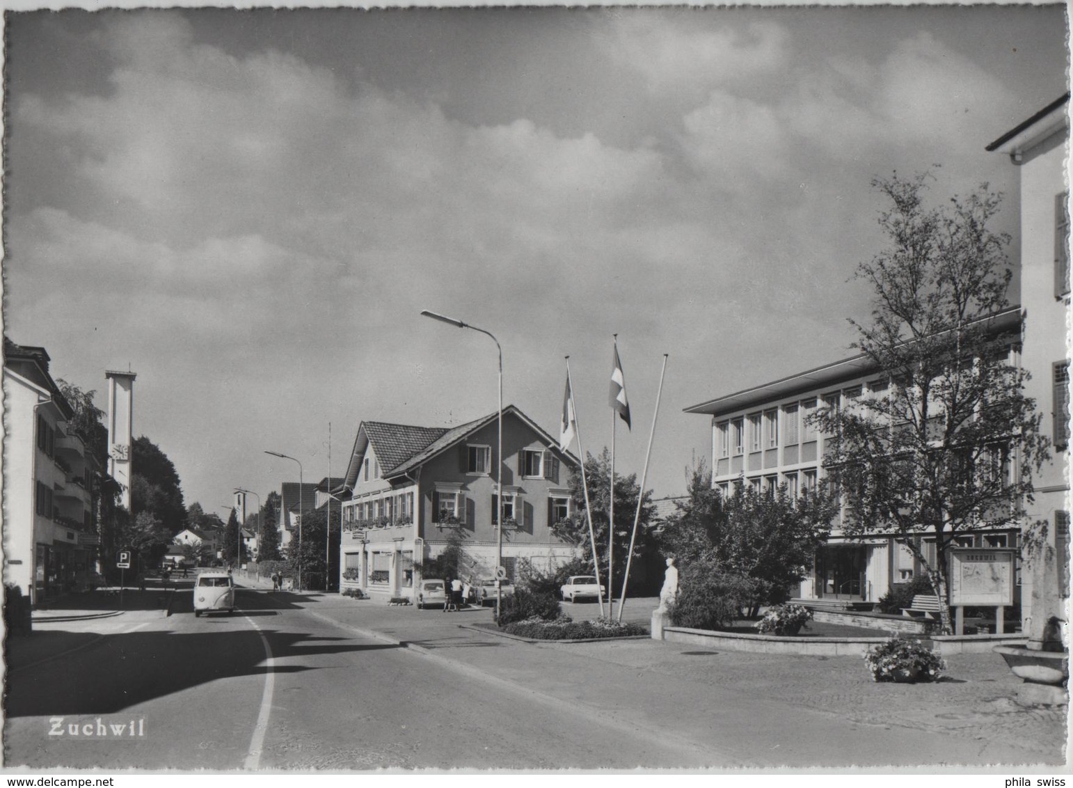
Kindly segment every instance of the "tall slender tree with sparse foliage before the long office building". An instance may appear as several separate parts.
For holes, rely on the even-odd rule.
[[[844,496],[847,536],[894,532],[920,560],[952,631],[946,556],[958,536],[1013,525],[1048,456],[1041,414],[1011,360],[1010,238],[988,229],[1002,195],[982,185],[942,208],[925,205],[929,173],[876,178],[891,203],[890,246],[857,266],[872,289],[871,322],[850,321],[886,389],[820,410],[824,466]],[[1016,462],[1016,473],[1010,464]],[[929,559],[922,537],[935,541]]]

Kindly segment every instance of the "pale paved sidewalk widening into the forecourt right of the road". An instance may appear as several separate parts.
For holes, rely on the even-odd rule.
[[[657,601],[628,600],[623,621],[647,623]],[[533,644],[460,626],[490,622],[490,609],[417,611],[318,593],[310,593],[303,607],[353,631],[445,660],[456,670],[583,706],[604,719],[640,716],[653,731],[677,731],[694,741],[708,741],[719,730],[743,753],[771,741],[771,746],[788,748],[788,764],[815,758],[814,751],[805,751],[809,742],[837,750],[837,742],[824,739],[824,720],[832,730],[852,723],[863,741],[874,739],[877,755],[891,740],[922,739],[924,744],[915,746],[932,747],[930,755],[892,754],[892,763],[950,763],[950,757],[955,763],[1065,762],[1067,710],[1017,705],[1020,680],[997,654],[952,656],[946,677],[936,684],[877,684],[859,657],[720,653],[653,640]],[[597,614],[594,604],[563,607],[577,619]],[[795,731],[790,741],[760,721],[770,725],[784,717],[789,724],[805,712],[813,729]],[[884,733],[890,729],[900,732]],[[791,751],[792,746],[802,751]]]

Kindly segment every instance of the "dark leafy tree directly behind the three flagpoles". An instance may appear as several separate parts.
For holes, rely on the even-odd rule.
[[[611,453],[604,448],[599,457],[588,454],[585,458],[585,476],[589,485],[589,504],[592,507],[592,530],[596,534],[597,560],[600,565],[601,581],[606,583],[608,595],[621,590],[622,579],[626,577],[626,564],[629,558],[630,536],[633,530],[633,519],[637,511],[637,498],[641,485],[635,473],[621,476],[615,473],[615,546],[613,567],[615,577],[608,583],[604,577],[607,571],[607,542],[609,536],[611,510]],[[567,541],[582,546],[582,557],[592,566],[592,545],[589,539],[589,525],[586,519],[585,493],[582,488],[582,475],[574,470],[570,476],[570,486],[573,491],[573,514],[568,520],[555,523],[552,532]],[[660,564],[656,545],[648,531],[648,522],[656,511],[652,506],[652,493],[644,494],[641,517],[637,523],[637,535],[633,545],[633,561],[630,568],[634,574],[630,588],[641,590],[650,585],[653,578],[662,577],[657,571]],[[590,570],[591,571],[591,570]]]

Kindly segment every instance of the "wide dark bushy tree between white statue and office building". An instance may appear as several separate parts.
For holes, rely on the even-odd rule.
[[[684,575],[700,568],[709,584],[717,575],[734,579],[735,599],[752,614],[761,604],[784,601],[805,579],[838,513],[837,499],[823,487],[795,498],[785,485],[760,492],[741,480],[723,497],[703,461],[690,475],[688,493],[664,526],[664,550]]]

